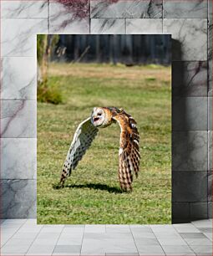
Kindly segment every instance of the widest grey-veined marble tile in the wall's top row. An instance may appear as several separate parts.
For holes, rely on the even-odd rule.
[[[91,0],[91,18],[162,18],[163,0]]]

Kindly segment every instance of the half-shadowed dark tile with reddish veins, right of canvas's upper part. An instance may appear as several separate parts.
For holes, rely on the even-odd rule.
[[[173,96],[207,96],[207,62],[172,62]]]

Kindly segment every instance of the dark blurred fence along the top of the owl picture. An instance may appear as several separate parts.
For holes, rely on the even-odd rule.
[[[52,60],[170,64],[170,35],[60,35]]]

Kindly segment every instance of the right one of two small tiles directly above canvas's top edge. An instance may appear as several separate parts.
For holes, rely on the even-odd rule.
[[[156,34],[163,32],[163,22],[161,19],[133,18],[126,20],[126,33]]]

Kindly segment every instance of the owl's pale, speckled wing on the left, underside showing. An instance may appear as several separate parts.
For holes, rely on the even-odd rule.
[[[68,155],[63,164],[60,179],[60,183],[62,185],[66,177],[70,176],[72,170],[74,170],[78,165],[89,146],[91,146],[98,131],[98,128],[91,123],[90,117],[79,124],[74,133],[74,139],[69,147]]]

